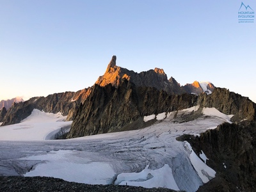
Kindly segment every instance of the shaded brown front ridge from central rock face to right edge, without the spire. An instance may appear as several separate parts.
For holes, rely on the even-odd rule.
[[[136,86],[123,79],[118,87],[112,84],[93,86],[88,99],[77,109],[67,138],[127,130],[124,127],[138,129],[144,126],[143,116],[196,105],[201,108],[216,108],[227,115],[234,115],[234,120],[255,118],[255,104],[226,89],[216,88],[211,95],[171,95],[164,90]]]

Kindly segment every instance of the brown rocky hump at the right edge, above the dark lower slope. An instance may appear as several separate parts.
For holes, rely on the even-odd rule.
[[[216,108],[226,115],[234,115],[231,118],[233,122],[256,120],[255,103],[248,97],[230,92],[225,88],[215,88],[211,95],[201,94],[198,104],[207,108]]]

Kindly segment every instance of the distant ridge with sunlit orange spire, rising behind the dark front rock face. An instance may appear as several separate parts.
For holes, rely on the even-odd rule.
[[[95,84],[106,86],[110,83],[118,88],[124,79],[131,81],[135,86],[156,88],[169,94],[180,95],[186,93],[186,90],[180,87],[180,84],[173,77],[169,80],[167,79],[163,69],[155,68],[138,74],[132,70],[116,66],[116,56],[113,56],[104,76],[100,76]],[[24,103],[15,104],[7,113],[1,113],[3,115],[1,121],[3,125],[19,123],[28,117],[33,109],[43,110],[48,113],[61,112],[63,115],[67,115],[67,120],[73,120],[80,104],[83,104],[91,92],[92,87],[78,92],[54,93],[47,97],[33,97]],[[198,93],[200,92],[204,92],[204,90],[201,89]],[[190,90],[188,93],[191,93]]]

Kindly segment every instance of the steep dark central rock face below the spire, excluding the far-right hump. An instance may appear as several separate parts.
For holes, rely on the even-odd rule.
[[[143,127],[145,115],[189,108],[195,102],[195,95],[170,95],[153,87],[136,86],[126,79],[117,88],[95,84],[78,109],[67,138],[123,131],[124,127],[138,129]]]

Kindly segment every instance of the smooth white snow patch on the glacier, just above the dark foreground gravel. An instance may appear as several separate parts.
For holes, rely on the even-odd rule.
[[[93,162],[87,157],[77,156],[72,150],[51,151],[42,156],[30,156],[22,160],[41,160],[45,163],[36,165],[35,170],[25,173],[25,177],[56,177],[68,181],[87,184],[111,184],[115,172],[108,163]]]

